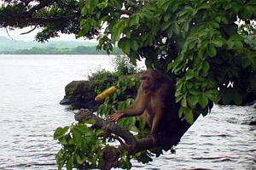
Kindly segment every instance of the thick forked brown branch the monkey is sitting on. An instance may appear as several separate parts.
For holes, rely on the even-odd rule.
[[[197,117],[195,117],[195,120],[196,118]],[[103,159],[105,160],[105,165],[103,169],[106,170],[117,165],[119,154],[124,150],[127,150],[131,155],[134,155],[142,150],[148,150],[152,148],[170,150],[173,145],[176,145],[180,141],[183,134],[191,126],[186,121],[173,122],[177,124],[177,128],[173,130],[171,136],[158,135],[154,140],[150,137],[137,140],[129,131],[125,131],[116,123],[104,120],[101,117],[94,115],[92,111],[81,110],[75,114],[76,121],[82,122],[83,119],[93,119],[96,121],[95,126],[97,128],[102,128],[108,133],[114,133],[125,140],[125,143],[120,144],[118,148],[104,150]]]

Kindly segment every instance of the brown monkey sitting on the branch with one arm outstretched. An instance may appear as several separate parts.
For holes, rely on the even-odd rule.
[[[140,80],[134,103],[124,111],[114,111],[108,118],[117,122],[125,116],[141,116],[150,127],[148,136],[153,139],[159,133],[170,136],[175,126],[172,122],[179,121],[174,83],[169,77],[154,70],[143,71]]]

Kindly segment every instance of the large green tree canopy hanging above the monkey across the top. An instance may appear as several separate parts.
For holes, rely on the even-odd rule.
[[[118,46],[132,63],[145,59],[165,72],[176,82],[177,114],[189,123],[213,103],[255,100],[255,0],[3,2],[0,27],[40,27],[40,42],[59,32],[97,38],[97,48]]]

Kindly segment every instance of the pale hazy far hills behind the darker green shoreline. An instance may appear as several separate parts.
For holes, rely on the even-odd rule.
[[[77,48],[79,46],[90,47],[96,46],[96,42],[76,42],[76,41],[49,41],[40,42],[25,42],[16,41],[7,37],[0,37],[0,52],[15,51],[31,48]]]

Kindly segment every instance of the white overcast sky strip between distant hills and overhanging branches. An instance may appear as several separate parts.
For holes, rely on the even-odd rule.
[[[30,31],[32,30],[32,28],[24,28],[22,30],[20,29],[15,29],[15,31],[8,31],[9,32],[9,35],[7,33],[7,31],[4,29],[4,28],[0,28],[0,36],[3,36],[3,37],[8,37],[9,39],[14,39],[14,40],[22,40],[22,41],[26,41],[26,42],[32,42],[35,40],[35,35],[37,34],[37,30],[35,31],[32,31],[28,34],[25,34],[25,35],[20,35],[21,33],[23,32],[27,32],[27,31]],[[54,41],[85,41],[83,38],[79,38],[79,39],[76,39],[74,35],[66,35],[66,34],[60,34],[60,37],[55,37],[55,38],[52,38],[50,40],[54,40]],[[89,40],[86,40],[86,41],[89,41]],[[96,40],[91,40],[93,42],[96,42]]]

